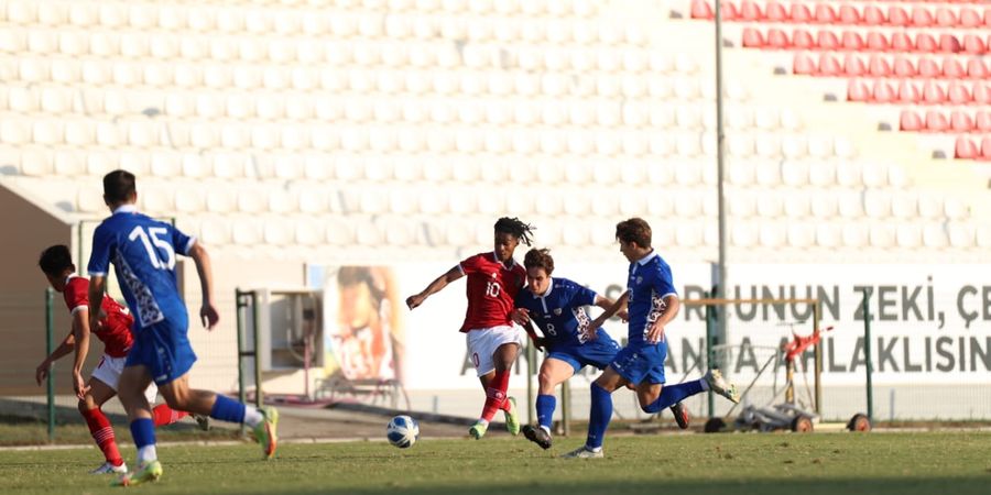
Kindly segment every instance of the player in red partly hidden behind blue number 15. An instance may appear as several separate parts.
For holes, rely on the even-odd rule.
[[[89,432],[97,446],[104,451],[106,462],[91,471],[92,474],[127,473],[117,441],[113,437],[113,428],[110,420],[100,410],[100,406],[117,395],[117,383],[120,372],[123,370],[124,359],[131,350],[131,323],[134,317],[128,308],[121,306],[110,296],[105,295],[100,304],[99,328],[89,327],[89,280],[76,276],[76,266],[73,264],[69,250],[65,245],[53,245],[42,252],[39,266],[44,272],[52,288],[65,296],[65,304],[73,315],[73,329],[68,337],[62,341],[51,355],[37,366],[35,380],[41,385],[48,376],[52,364],[58,359],[75,350],[73,364],[73,389],[79,398],[79,413],[89,426]],[[104,342],[104,358],[94,370],[92,376],[86,383],[83,380],[83,363],[89,352],[89,336],[92,333]],[[149,402],[154,402],[157,388],[152,384],[148,387]],[[171,409],[162,404],[154,409],[155,426],[171,425],[189,416],[188,413]],[[197,417],[200,427],[206,428],[206,417]]]

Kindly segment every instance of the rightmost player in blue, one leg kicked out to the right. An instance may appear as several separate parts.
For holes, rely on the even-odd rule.
[[[734,385],[718,370],[697,381],[664,386],[667,340],[664,328],[674,320],[680,304],[671,267],[651,248],[651,226],[631,218],[616,226],[620,252],[630,262],[627,292],[616,306],[629,305],[629,341],[602,374],[591,384],[591,410],[585,446],[565,458],[602,458],[602,440],[612,417],[612,392],[633,384],[644,413],[655,414],[704,391],[710,389],[733,403],[740,400]]]

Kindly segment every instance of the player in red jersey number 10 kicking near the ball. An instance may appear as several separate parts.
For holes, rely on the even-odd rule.
[[[530,245],[533,229],[520,219],[500,218],[494,227],[492,252],[468,257],[420,294],[406,298],[406,306],[415,309],[447,284],[468,276],[468,311],[460,331],[467,334],[468,352],[486,391],[481,417],[468,430],[476,440],[486,435],[489,421],[499,409],[505,413],[505,427],[510,433],[520,432],[516,400],[505,395],[510,370],[524,340],[522,330],[513,326],[511,315],[513,299],[526,283],[526,270],[513,260],[513,251],[521,240]]]

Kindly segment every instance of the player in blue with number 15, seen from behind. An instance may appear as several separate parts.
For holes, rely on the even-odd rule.
[[[104,220],[92,238],[89,258],[89,300],[102,300],[110,263],[124,299],[134,315],[133,345],[120,375],[118,395],[128,411],[131,436],[138,447],[138,470],[122,474],[117,486],[156,481],[162,465],[155,453],[155,430],[144,389],[152,382],[173,409],[209,415],[251,427],[265,458],[275,453],[274,408],[255,409],[222,395],[189,388],[189,370],[196,354],[186,333],[188,316],[176,286],[175,256],[186,255],[196,264],[203,290],[199,316],[207,329],[219,319],[213,302],[210,258],[200,243],[173,226],[138,212],[134,175],[113,170],[104,176],[104,201],[113,215]],[[100,311],[90,311],[90,328],[97,328]]]

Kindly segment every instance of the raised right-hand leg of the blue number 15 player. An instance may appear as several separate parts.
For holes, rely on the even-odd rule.
[[[173,409],[208,415],[221,421],[244,424],[254,432],[265,458],[271,459],[275,454],[279,411],[274,407],[258,409],[225,395],[190,388],[188,374],[159,385],[159,393],[165,398],[165,404]]]

